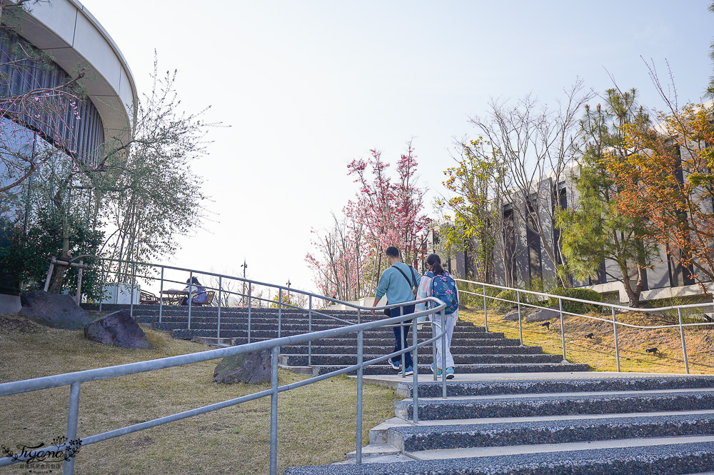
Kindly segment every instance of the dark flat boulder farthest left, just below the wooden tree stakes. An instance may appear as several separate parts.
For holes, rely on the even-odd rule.
[[[79,330],[92,321],[69,295],[48,294],[44,290],[20,296],[20,313],[39,324],[63,330]]]

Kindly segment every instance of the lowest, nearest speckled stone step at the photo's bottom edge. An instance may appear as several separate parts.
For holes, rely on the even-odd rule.
[[[588,450],[588,447],[590,448]],[[465,450],[425,451],[421,460],[289,467],[285,475],[677,475],[714,467],[714,437],[627,439],[528,446],[518,453],[468,456]],[[491,449],[493,450],[493,449]],[[473,449],[471,451],[473,453]],[[486,453],[485,451],[479,452]]]

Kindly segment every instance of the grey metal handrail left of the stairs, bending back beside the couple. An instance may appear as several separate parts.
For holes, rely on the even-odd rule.
[[[149,265],[149,264],[140,264],[140,265]],[[186,271],[189,271],[191,275],[193,275],[193,272],[195,272],[192,269],[181,269],[181,268],[177,268],[177,267],[161,266],[162,279],[163,279],[163,275],[164,275],[164,269],[167,269],[167,268],[181,270],[181,271],[186,270]],[[136,269],[136,266],[134,266],[134,269]],[[203,273],[201,273],[201,274],[203,274]],[[205,274],[218,276],[221,279],[223,277],[227,277],[229,279],[244,280],[244,281],[249,282],[249,287],[253,283],[256,283],[255,281],[248,281],[247,279],[223,276],[222,274],[215,274],[215,273],[205,273]],[[134,275],[136,275],[136,272],[134,272]],[[163,282],[163,280],[162,280],[162,282]],[[259,284],[263,285],[263,286],[273,286],[271,284],[263,284],[263,283],[259,283]],[[273,286],[273,287],[281,288],[281,286]],[[132,291],[133,291],[133,289],[134,289],[134,286],[132,286]],[[285,289],[285,288],[282,287],[282,289]],[[219,289],[219,291],[220,291],[220,289]],[[296,290],[293,289],[291,291],[296,291]],[[247,344],[243,344],[243,345],[239,345],[239,346],[231,346],[231,347],[225,348],[225,349],[214,349],[214,350],[208,350],[208,351],[201,351],[199,353],[193,353],[193,354],[170,356],[167,358],[154,359],[154,360],[150,360],[150,361],[139,361],[137,363],[121,364],[121,365],[116,365],[116,366],[109,366],[106,368],[89,369],[89,370],[85,370],[85,371],[75,371],[73,373],[58,374],[58,375],[54,375],[54,376],[43,376],[40,378],[26,379],[23,381],[12,381],[9,383],[2,383],[2,384],[0,384],[0,396],[7,396],[10,394],[19,394],[19,393],[24,393],[24,392],[29,392],[29,391],[37,391],[39,389],[49,389],[49,388],[58,387],[58,386],[70,386],[69,411],[68,411],[67,430],[66,430],[67,441],[64,444],[57,444],[54,446],[43,447],[44,451],[65,451],[66,449],[70,449],[72,447],[72,444],[77,444],[78,441],[79,441],[79,444],[81,444],[81,446],[95,444],[96,442],[99,442],[99,441],[104,441],[106,439],[111,439],[111,438],[125,435],[125,434],[131,434],[132,432],[149,429],[150,427],[159,426],[162,424],[168,424],[169,422],[172,422],[172,421],[186,419],[187,417],[196,416],[198,414],[204,414],[209,411],[215,411],[217,409],[222,409],[223,407],[233,406],[235,404],[241,404],[243,402],[252,401],[253,399],[259,399],[259,398],[265,397],[265,396],[271,396],[271,451],[270,451],[270,467],[271,467],[270,470],[271,470],[271,472],[270,473],[277,474],[278,393],[283,392],[283,391],[288,391],[290,389],[296,389],[301,386],[306,386],[307,384],[313,384],[318,381],[322,381],[323,379],[328,379],[333,376],[338,376],[340,374],[346,374],[350,371],[357,371],[357,393],[358,394],[357,394],[357,404],[356,404],[356,412],[357,412],[356,461],[358,464],[360,464],[361,463],[361,455],[362,455],[362,452],[361,452],[362,429],[361,428],[362,428],[363,368],[365,366],[370,366],[371,364],[376,364],[381,361],[386,361],[386,359],[392,358],[393,356],[401,355],[402,360],[403,360],[404,354],[406,354],[408,351],[414,351],[414,358],[413,358],[413,421],[416,424],[418,422],[418,348],[420,348],[421,346],[425,346],[427,344],[433,344],[436,341],[438,341],[439,339],[441,339],[441,344],[442,344],[442,349],[443,349],[443,351],[442,351],[442,365],[443,365],[443,367],[446,367],[446,351],[444,351],[445,346],[446,346],[446,331],[441,331],[441,333],[436,331],[436,328],[438,328],[440,330],[445,328],[445,326],[444,326],[445,314],[444,314],[443,310],[446,308],[446,304],[444,304],[440,300],[436,299],[435,297],[427,297],[426,299],[418,299],[416,301],[405,302],[402,304],[391,304],[391,305],[387,305],[387,306],[367,307],[367,306],[359,306],[359,305],[355,305],[355,304],[350,304],[348,302],[338,301],[336,299],[331,299],[326,296],[320,296],[318,294],[312,294],[312,293],[306,292],[306,291],[299,291],[299,292],[301,294],[306,294],[308,296],[308,299],[310,302],[310,312],[309,312],[310,316],[313,313],[312,308],[311,308],[313,296],[316,296],[319,299],[325,299],[325,300],[336,302],[338,304],[351,306],[353,309],[358,310],[358,315],[359,315],[359,312],[362,310],[376,311],[376,310],[401,307],[401,309],[403,311],[404,306],[426,303],[426,302],[433,304],[433,307],[431,309],[414,312],[413,314],[401,315],[401,316],[391,317],[388,319],[366,322],[366,323],[351,324],[351,326],[343,326],[343,327],[338,327],[335,329],[309,332],[307,334],[301,334],[301,335],[296,335],[296,336],[283,336],[283,337],[278,337],[277,339],[272,339],[272,340],[267,340],[267,341],[258,341],[255,343],[247,343]],[[133,295],[132,295],[132,302],[133,302]],[[250,300],[248,300],[248,302],[250,302]],[[280,306],[281,304],[282,304],[282,301],[278,301],[278,319],[280,316],[279,311],[281,309],[281,306]],[[191,309],[190,305],[188,306],[188,309],[189,309],[189,319],[190,319],[190,309]],[[220,307],[219,307],[219,310],[220,310]],[[432,338],[428,339],[426,341],[423,341],[421,343],[418,343],[418,337],[417,337],[418,317],[434,315],[434,314],[440,315],[441,324],[437,325],[436,321],[433,321],[432,324],[433,324],[434,330],[433,330]],[[248,314],[248,315],[250,315],[250,314]],[[411,320],[411,325],[413,326],[413,344],[411,346],[403,348],[403,349],[401,349],[401,351],[393,351],[390,354],[387,354],[386,356],[380,356],[376,359],[371,359],[369,361],[363,361],[363,332],[364,331],[371,330],[371,329],[377,329],[377,328],[380,328],[383,326],[393,326],[395,324],[400,324],[400,325],[404,326],[404,322],[408,321],[408,320]],[[310,320],[310,324],[311,324],[311,320]],[[220,314],[219,314],[218,325],[220,326]],[[279,326],[278,326],[278,331],[279,331]],[[328,374],[323,374],[320,376],[313,376],[312,378],[309,378],[309,379],[306,379],[303,381],[298,381],[296,383],[287,384],[284,386],[278,386],[278,354],[279,354],[278,352],[279,352],[279,348],[281,346],[286,346],[286,345],[291,345],[291,344],[302,344],[302,343],[308,343],[308,346],[309,346],[311,344],[311,342],[314,340],[333,337],[333,336],[341,336],[341,335],[346,335],[346,334],[351,334],[351,333],[357,333],[357,341],[358,341],[357,364],[348,366],[343,369],[338,369],[336,371],[331,371]],[[436,362],[436,346],[432,345],[432,348],[433,348],[434,361]],[[260,391],[255,394],[250,394],[248,396],[243,396],[243,397],[236,398],[236,399],[229,399],[227,401],[222,401],[220,403],[203,406],[203,407],[200,407],[197,409],[192,409],[190,411],[183,411],[181,413],[173,414],[171,416],[165,416],[165,417],[161,417],[159,419],[145,421],[140,424],[133,424],[131,426],[125,426],[121,429],[115,429],[113,431],[108,431],[108,432],[104,432],[101,434],[95,434],[94,436],[88,436],[88,437],[84,437],[81,439],[76,439],[77,426],[79,423],[79,396],[80,396],[79,390],[80,390],[81,383],[88,382],[88,381],[98,381],[100,379],[113,378],[116,376],[139,374],[141,372],[146,372],[146,371],[155,371],[157,369],[171,368],[174,366],[181,366],[184,364],[197,363],[197,362],[201,362],[201,361],[209,361],[211,359],[218,359],[218,358],[223,358],[226,356],[233,356],[236,354],[243,354],[243,353],[248,353],[248,352],[252,352],[252,351],[260,351],[260,350],[266,350],[266,349],[271,350],[271,389],[269,389],[269,390]],[[402,367],[404,368],[404,366],[402,366]],[[402,374],[404,375],[405,371],[403,371]],[[436,374],[434,374],[433,377],[434,377],[434,380],[436,381],[436,379],[437,379]],[[444,372],[442,374],[441,381],[442,381],[443,397],[446,397],[446,372]],[[75,447],[76,447],[76,445],[75,445]],[[14,464],[14,463],[17,463],[20,461],[26,461],[28,459],[31,459],[31,453],[21,455],[21,456],[15,456],[15,457],[8,456],[8,457],[4,457],[3,459],[0,459],[0,466],[6,466],[6,465]],[[74,455],[66,456],[64,460],[65,461],[64,461],[63,473],[66,475],[74,474]]]

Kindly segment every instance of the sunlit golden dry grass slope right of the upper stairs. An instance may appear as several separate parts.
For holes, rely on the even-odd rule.
[[[611,316],[595,315],[610,319]],[[483,325],[483,311],[465,310],[458,312],[459,319]],[[488,329],[502,331],[506,338],[518,339],[518,321],[501,319],[503,312],[488,309]],[[618,314],[618,321],[640,325],[657,326],[676,324],[673,317],[631,312]],[[550,329],[538,323],[523,322],[523,344],[543,346],[549,354],[562,354],[560,319],[550,321]],[[615,338],[613,324],[577,316],[564,316],[565,357],[571,363],[589,364],[595,371],[617,371],[615,361]],[[693,374],[714,373],[714,329],[711,327],[685,328],[685,342],[689,361],[689,371]],[[585,335],[593,333],[593,338]],[[620,349],[620,369],[622,371],[651,373],[684,373],[682,339],[678,328],[674,329],[633,329],[618,325],[618,346]],[[656,347],[656,354],[646,354],[645,349]]]

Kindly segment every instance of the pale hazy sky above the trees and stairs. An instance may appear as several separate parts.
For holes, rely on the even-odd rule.
[[[419,184],[446,194],[454,144],[475,138],[492,100],[533,94],[555,105],[579,79],[603,94],[636,87],[663,109],[645,61],[680,104],[713,72],[710,0],[83,0],[114,39],[139,93],[178,71],[186,111],[206,106],[209,218],[179,239],[171,264],[314,290],[311,230],[356,194],[347,164],[412,141]],[[593,99],[593,104],[599,99]]]

